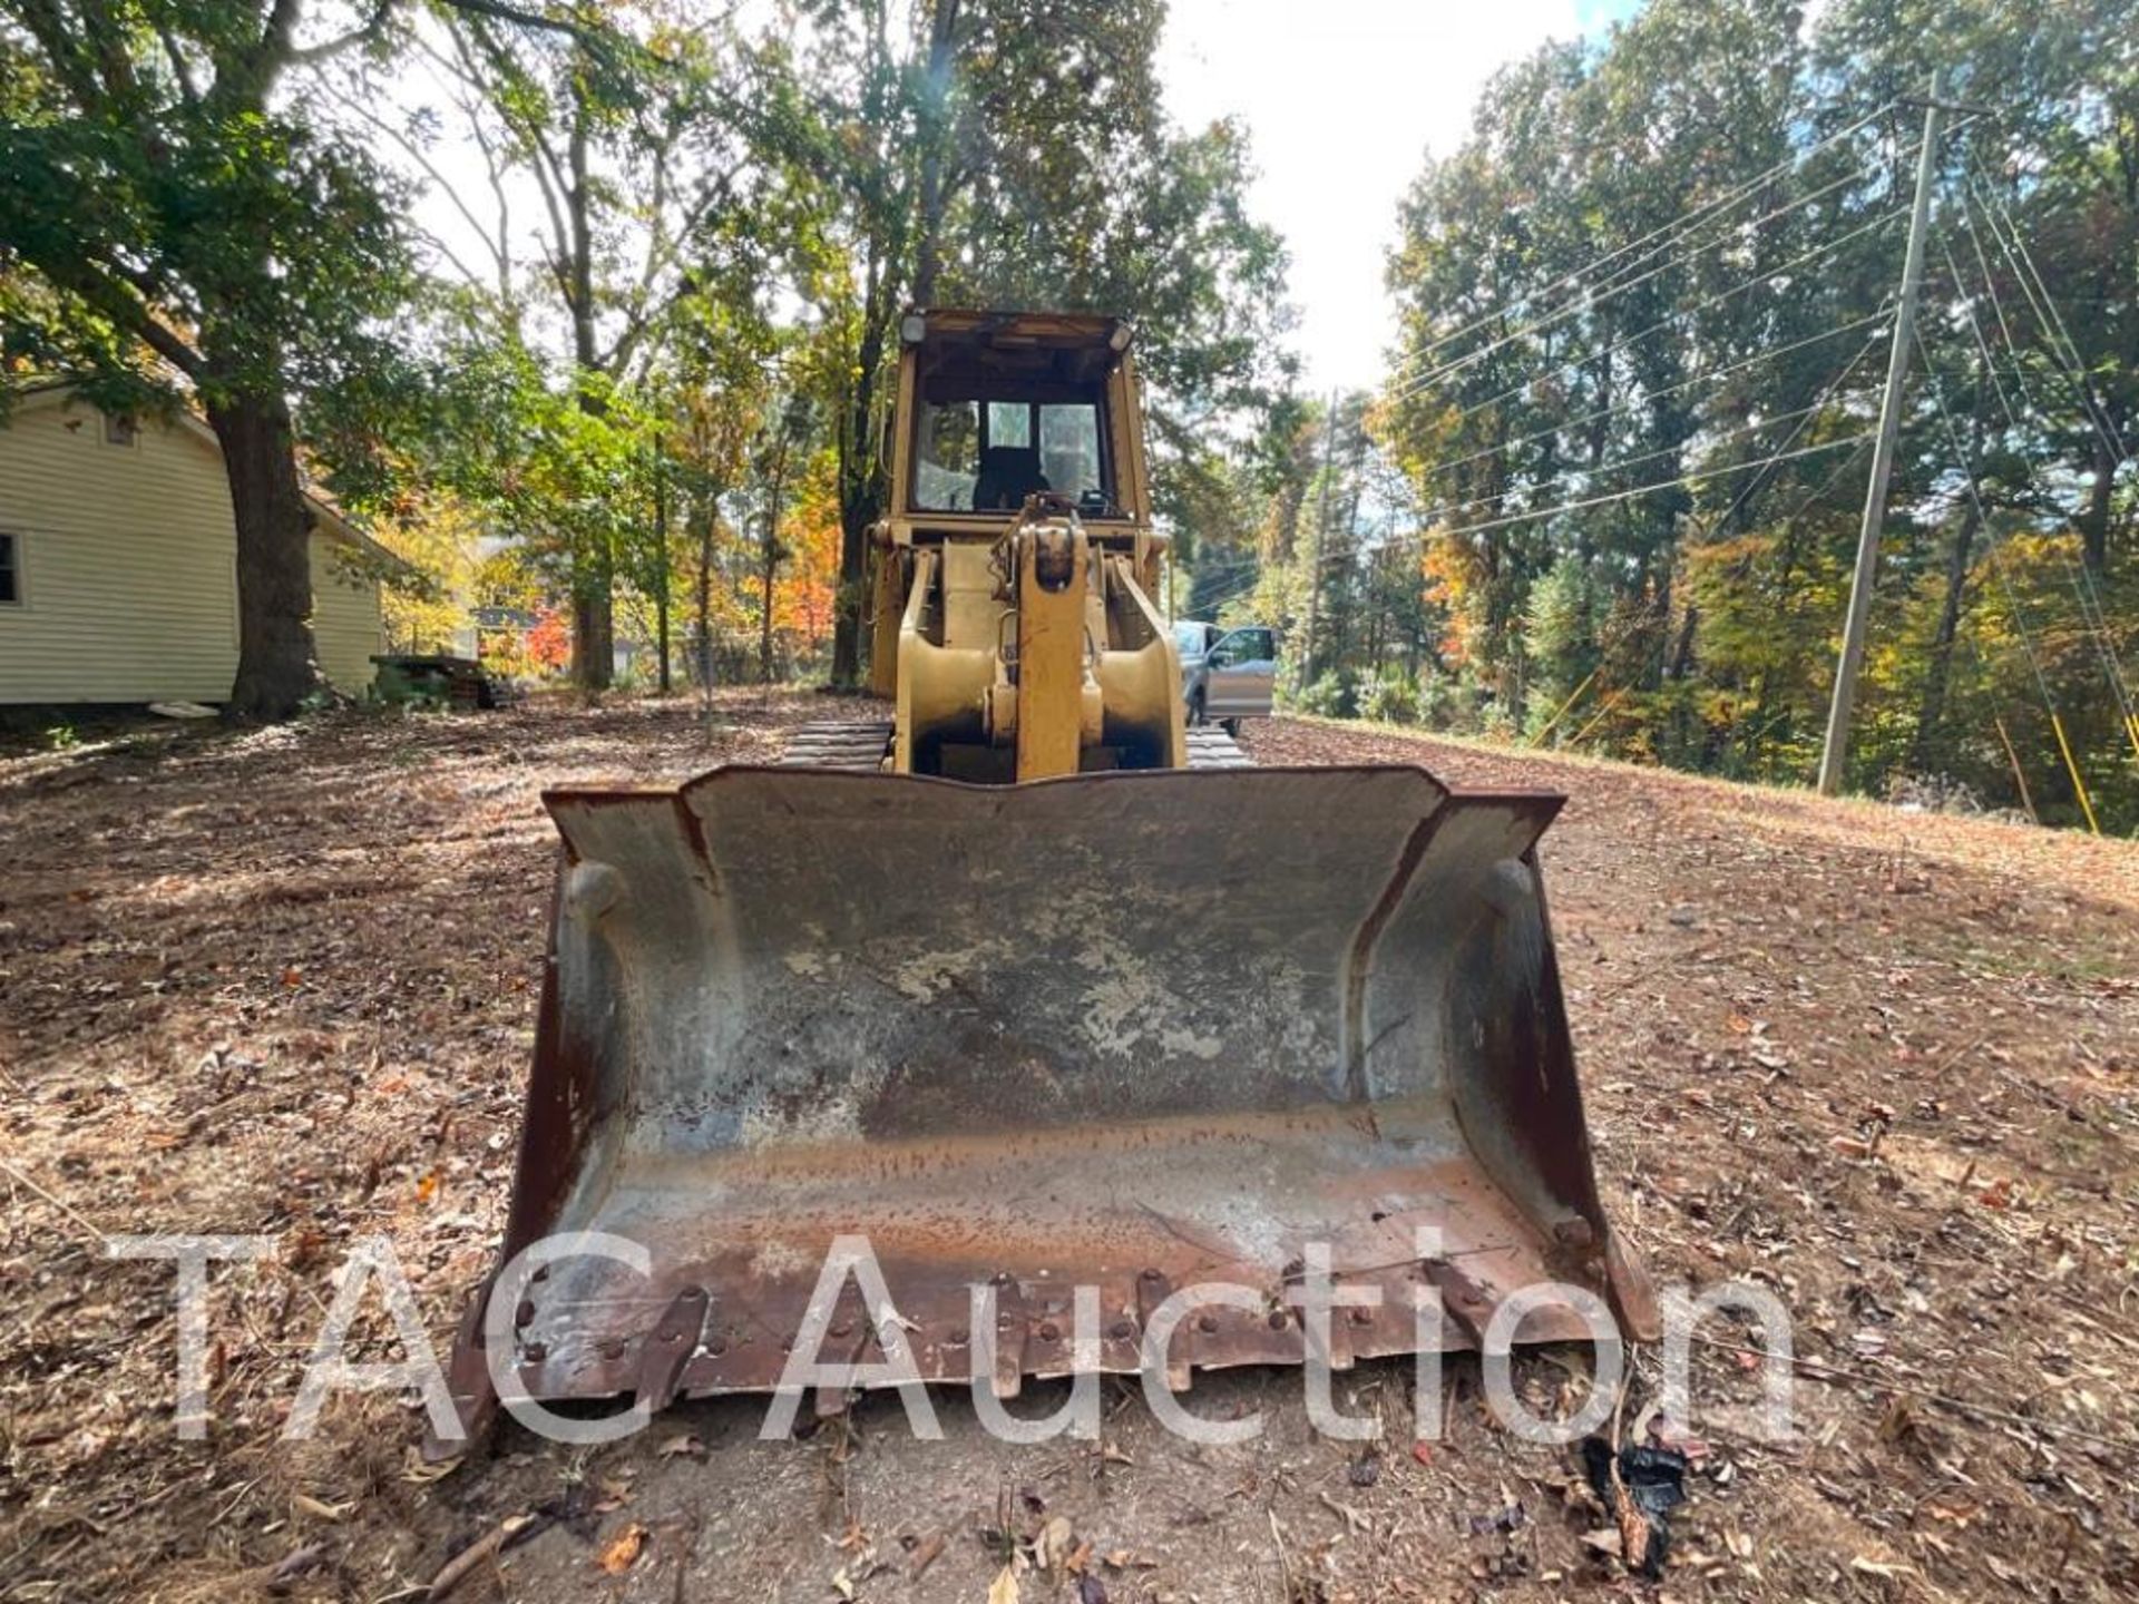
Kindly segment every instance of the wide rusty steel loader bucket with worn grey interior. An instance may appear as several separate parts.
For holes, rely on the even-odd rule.
[[[969,1287],[1001,1290],[997,1392],[1072,1369],[1080,1285],[1097,1369],[1140,1369],[1153,1305],[1211,1281],[1264,1305],[1181,1324],[1174,1386],[1301,1362],[1313,1243],[1386,1300],[1339,1313],[1337,1364],[1476,1347],[1538,1281],[1651,1339],[1598,1204],[1538,883],[1559,802],[1418,768],[552,791],[565,855],[501,1264],[593,1230],[650,1273],[556,1262],[501,1362],[533,1399],[770,1390],[849,1234],[924,1379],[971,1379]],[[866,1317],[830,1332],[881,1356]],[[1521,1324],[1585,1335],[1559,1300]],[[471,1420],[492,1403],[473,1317],[451,1386]]]

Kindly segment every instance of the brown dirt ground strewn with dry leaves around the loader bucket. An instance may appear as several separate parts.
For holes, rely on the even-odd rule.
[[[1249,744],[1568,791],[1544,864],[1613,1219],[1658,1279],[1758,1279],[1795,1315],[1786,1441],[1745,1424],[1754,1332],[1703,1328],[1660,1587],[1585,1544],[1609,1523],[1581,1471],[1493,1426],[1461,1360],[1425,1448],[1407,1364],[1341,1382],[1382,1414],[1367,1450],[1315,1437],[1275,1371],[1191,1394],[1264,1409],[1251,1448],[1176,1441],[1127,1386],[1097,1446],[997,1444],[954,1394],[941,1444],[896,1399],[772,1444],[761,1403],[721,1401],[601,1450],[509,1429],[438,1474],[391,1394],[282,1444],[355,1238],[391,1240],[441,1347],[492,1251],[537,791],[766,757],[826,706],[334,714],[0,761],[0,1600],[413,1600],[530,1512],[456,1600],[2139,1591],[2139,849],[1363,725]],[[199,1444],[171,1420],[173,1273],[101,1245],[180,1230],[278,1243],[216,1273]],[[1566,1407],[1585,1354],[1517,1373]],[[1656,1377],[1638,1356],[1630,1429]],[[1005,1580],[1018,1548],[1072,1563]]]

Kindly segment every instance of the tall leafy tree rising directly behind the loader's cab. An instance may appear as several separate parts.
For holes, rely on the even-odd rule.
[[[843,349],[826,396],[841,464],[832,678],[853,684],[898,312],[1127,314],[1159,408],[1209,436],[1264,402],[1281,370],[1283,250],[1247,216],[1238,133],[1187,135],[1166,120],[1157,0],[811,0],[800,11],[809,26],[770,53],[791,90],[787,115],[768,126],[798,192],[819,197],[804,287]]]

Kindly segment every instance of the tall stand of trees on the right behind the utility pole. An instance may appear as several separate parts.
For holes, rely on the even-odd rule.
[[[1651,0],[1502,73],[1405,197],[1378,415],[1459,684],[1534,729],[1585,687],[1589,742],[1810,776],[1923,115],[1904,98],[1944,64],[1998,113],[1949,118],[1936,154],[1852,778],[2017,800],[1989,708],[2053,766],[2045,817],[2081,813],[2034,740],[2056,725],[2100,768],[2096,815],[2133,817],[2109,761],[2139,635],[2128,36],[2128,6]],[[2026,592],[2036,560],[2064,562],[2062,595]]]

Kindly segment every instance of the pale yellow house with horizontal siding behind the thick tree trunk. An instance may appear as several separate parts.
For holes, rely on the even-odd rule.
[[[312,637],[351,695],[385,650],[396,558],[312,511]],[[222,701],[237,672],[237,530],[214,430],[113,417],[64,385],[0,415],[0,706]]]

